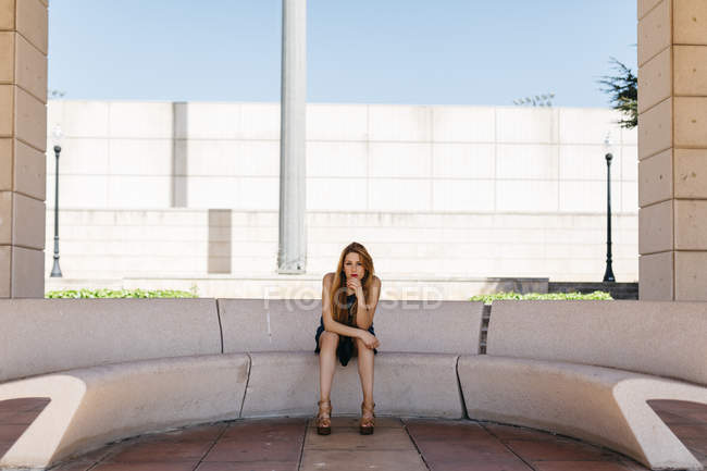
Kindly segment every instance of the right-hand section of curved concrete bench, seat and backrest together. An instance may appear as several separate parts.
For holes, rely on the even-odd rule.
[[[652,469],[703,467],[646,404],[707,404],[707,303],[496,301],[459,359],[469,417],[558,432]]]

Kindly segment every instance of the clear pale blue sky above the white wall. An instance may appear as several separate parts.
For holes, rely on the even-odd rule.
[[[66,99],[278,101],[281,0],[53,0]],[[607,107],[636,0],[309,0],[308,101]]]

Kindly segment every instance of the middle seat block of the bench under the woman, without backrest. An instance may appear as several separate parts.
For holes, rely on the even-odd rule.
[[[464,417],[451,354],[381,351],[375,356],[375,413],[379,416]],[[312,416],[319,397],[319,357],[311,351],[250,354],[244,418]],[[358,362],[337,363],[332,385],[335,414],[361,413]]]

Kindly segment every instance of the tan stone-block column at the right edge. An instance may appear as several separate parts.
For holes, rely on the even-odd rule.
[[[638,0],[640,297],[707,300],[707,2]]]

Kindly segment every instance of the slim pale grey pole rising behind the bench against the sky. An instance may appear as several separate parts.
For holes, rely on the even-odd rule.
[[[282,60],[277,271],[280,273],[303,273],[307,269],[306,0],[283,0]]]

